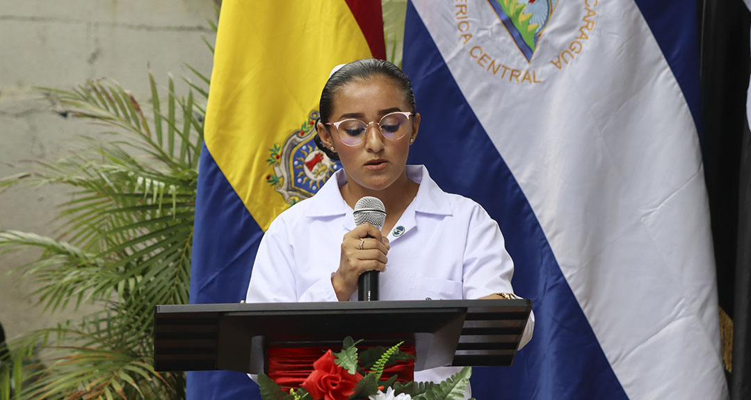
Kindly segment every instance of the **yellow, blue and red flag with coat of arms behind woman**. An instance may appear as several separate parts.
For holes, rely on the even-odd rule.
[[[190,301],[245,299],[273,218],[340,165],[313,143],[335,65],[385,58],[380,1],[225,0],[219,17],[195,212]],[[188,398],[260,398],[232,371],[188,374]]]

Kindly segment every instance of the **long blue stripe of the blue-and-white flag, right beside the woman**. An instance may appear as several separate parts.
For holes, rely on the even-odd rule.
[[[627,398],[526,197],[463,98],[412,2],[403,66],[423,116],[409,163],[427,165],[445,191],[471,197],[498,221],[517,266],[514,290],[532,299],[535,311],[532,341],[511,367],[475,368],[472,395]]]

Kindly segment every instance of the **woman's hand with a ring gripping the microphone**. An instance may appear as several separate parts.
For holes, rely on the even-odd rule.
[[[388,239],[371,224],[358,225],[344,235],[339,269],[331,277],[333,290],[340,302],[346,301],[357,290],[357,278],[366,271],[386,270]]]

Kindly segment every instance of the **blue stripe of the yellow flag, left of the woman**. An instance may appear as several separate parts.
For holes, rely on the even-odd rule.
[[[195,204],[191,304],[245,299],[263,235],[204,144]],[[233,371],[189,372],[186,392],[188,400],[261,398],[248,375]]]

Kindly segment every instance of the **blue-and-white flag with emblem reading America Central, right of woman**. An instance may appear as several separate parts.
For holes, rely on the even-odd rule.
[[[699,116],[696,5],[409,2],[426,164],[481,203],[532,341],[476,398],[727,398]]]

